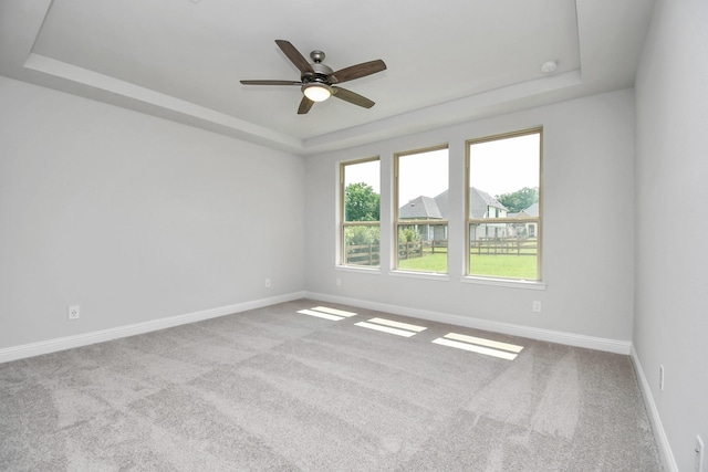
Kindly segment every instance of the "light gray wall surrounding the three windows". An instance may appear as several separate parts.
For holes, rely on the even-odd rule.
[[[465,140],[544,128],[543,292],[461,283]],[[335,268],[337,162],[381,156],[382,241],[393,241],[396,151],[449,143],[450,277],[428,280]],[[634,95],[632,90],[421,133],[306,160],[306,289],[459,317],[582,336],[632,338],[634,268]],[[383,260],[391,260],[389,242]],[[341,279],[337,286],[335,280]],[[541,314],[531,312],[542,301]]]

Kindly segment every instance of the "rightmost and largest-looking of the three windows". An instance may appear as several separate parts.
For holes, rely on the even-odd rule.
[[[542,130],[467,141],[467,274],[541,280]]]

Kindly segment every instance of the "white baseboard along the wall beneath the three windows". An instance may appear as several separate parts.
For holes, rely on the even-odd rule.
[[[410,316],[419,319],[429,319],[438,323],[447,323],[469,328],[483,329],[492,333],[509,334],[512,336],[528,337],[531,339],[546,340],[568,346],[585,347],[589,349],[604,350],[614,354],[629,355],[632,344],[628,340],[608,339],[594,336],[585,336],[574,333],[563,333],[551,329],[535,328],[531,326],[514,325],[511,323],[493,322],[475,318],[471,316],[454,315],[449,313],[431,312],[427,310],[412,308],[407,306],[389,305],[385,303],[369,302],[360,298],[326,295],[323,293],[305,292],[308,298],[344,305],[358,306],[361,308],[376,310],[393,313],[395,315]]]

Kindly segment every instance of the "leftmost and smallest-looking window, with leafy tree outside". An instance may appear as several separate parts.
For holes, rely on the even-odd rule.
[[[377,157],[340,167],[342,265],[379,266],[381,190]]]

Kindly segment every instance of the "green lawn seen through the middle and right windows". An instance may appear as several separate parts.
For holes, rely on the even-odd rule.
[[[469,259],[470,275],[535,280],[535,258],[530,255],[477,255]],[[447,254],[425,254],[398,262],[408,271],[447,272]]]

